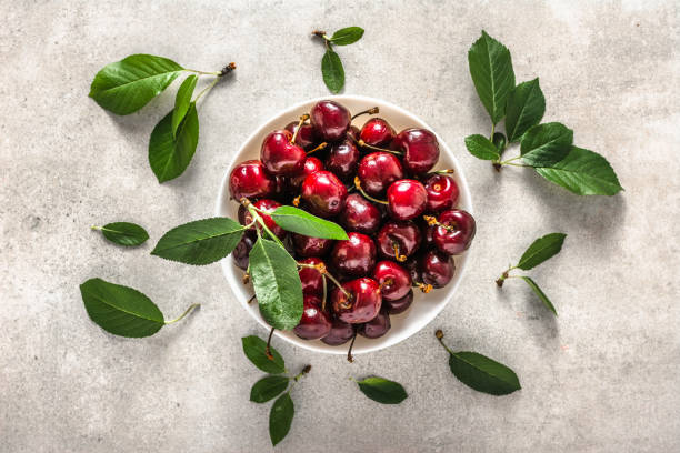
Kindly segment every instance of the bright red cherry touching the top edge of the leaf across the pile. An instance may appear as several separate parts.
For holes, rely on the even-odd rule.
[[[330,171],[317,171],[304,178],[302,199],[310,211],[319,217],[329,218],[342,211],[347,188]]]

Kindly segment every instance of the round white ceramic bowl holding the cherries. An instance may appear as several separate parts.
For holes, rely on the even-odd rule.
[[[424,128],[437,133],[432,130],[432,128],[426,124],[424,121],[422,121],[414,114],[379,99],[361,95],[336,95],[310,99],[308,101],[300,102],[299,104],[296,104],[290,109],[278,113],[276,117],[260,125],[243,142],[239,151],[231,160],[231,163],[229,164],[229,168],[227,169],[227,171],[224,172],[224,177],[222,178],[222,183],[220,185],[220,190],[217,198],[217,215],[237,219],[237,212],[239,208],[238,203],[229,200],[229,174],[231,173],[231,170],[238,163],[244,160],[259,159],[260,145],[262,144],[262,140],[269,132],[274,129],[282,129],[289,122],[298,120],[301,114],[308,113],[311,110],[311,107],[322,99],[332,99],[333,101],[347,107],[352,113],[378,105],[380,108],[380,113],[377,117],[384,118],[397,131],[400,131],[406,128]],[[354,120],[354,124],[360,128],[369,118],[371,117],[361,115]],[[462,168],[458,163],[458,160],[456,160],[456,157],[453,155],[449,147],[447,147],[447,144],[441,140],[441,137],[437,135],[437,140],[439,140],[439,148],[441,152],[439,162],[434,169],[456,170],[456,173],[452,174],[452,177],[458,182],[458,187],[460,189],[459,207],[472,213],[470,189],[466,181]],[[408,339],[409,336],[424,328],[439,314],[439,312],[443,310],[446,304],[452,299],[453,294],[456,293],[456,289],[460,284],[460,280],[466,269],[468,253],[461,256],[456,256],[456,274],[446,288],[432,290],[429,294],[422,294],[420,291],[414,289],[414,300],[411,304],[411,308],[404,313],[397,314],[390,318],[390,321],[392,323],[392,328],[390,329],[390,331],[386,335],[374,340],[358,336],[352,352],[356,354],[360,354],[362,352],[378,351],[383,348],[391,346],[392,344],[397,344],[400,341]],[[222,260],[221,265],[222,270],[224,271],[224,276],[229,282],[229,288],[231,289],[231,291],[233,291],[238,300],[241,302],[243,309],[246,309],[257,322],[259,322],[263,328],[269,331],[270,328],[260,315],[258,304],[248,304],[248,300],[252,295],[252,288],[250,285],[246,286],[241,282],[243,271],[237,268],[233,264],[233,260],[229,256]],[[276,331],[276,335],[310,351],[326,352],[330,354],[347,354],[347,343],[340,346],[330,346],[319,340],[302,340],[290,331]]]

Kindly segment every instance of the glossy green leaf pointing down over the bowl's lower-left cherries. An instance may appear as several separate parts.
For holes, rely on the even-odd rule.
[[[249,259],[262,318],[274,329],[293,329],[302,318],[298,263],[281,245],[262,238],[253,245]]]

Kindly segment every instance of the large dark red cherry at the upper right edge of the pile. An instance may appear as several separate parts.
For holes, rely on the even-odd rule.
[[[439,160],[439,142],[427,129],[406,129],[392,140],[391,148],[403,152],[403,168],[413,175],[424,174]]]

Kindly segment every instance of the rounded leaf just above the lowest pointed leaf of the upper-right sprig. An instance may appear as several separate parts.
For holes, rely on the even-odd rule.
[[[562,123],[534,125],[522,135],[522,161],[531,167],[549,167],[567,157],[573,131]]]

